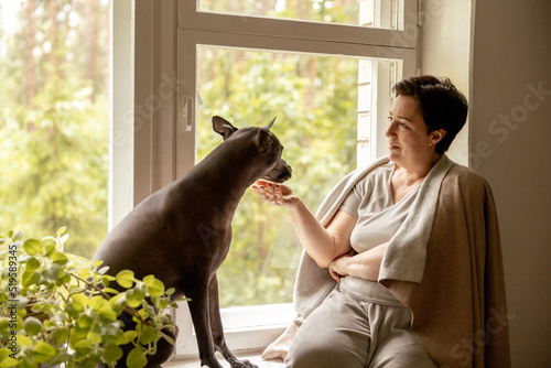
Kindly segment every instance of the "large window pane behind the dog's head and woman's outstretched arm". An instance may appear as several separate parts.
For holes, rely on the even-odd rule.
[[[382,62],[198,46],[197,90],[204,107],[197,112],[197,161],[222,142],[212,116],[237,128],[261,127],[277,117],[272,131],[293,167],[288,184],[315,212],[356,167],[357,152],[369,154],[361,148],[372,94],[361,90],[370,87],[371,63]],[[360,104],[358,95],[365,96]],[[367,127],[358,132],[358,123]],[[231,249],[218,271],[222,306],[291,302],[302,247],[287,209],[247,191],[233,227]]]

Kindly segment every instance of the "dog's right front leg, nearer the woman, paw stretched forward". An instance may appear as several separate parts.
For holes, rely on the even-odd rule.
[[[216,274],[213,277],[213,280],[210,280],[210,288],[208,289],[208,305],[210,312],[210,328],[213,331],[213,339],[216,350],[224,356],[231,368],[258,368],[249,360],[238,360],[226,345],[226,339],[224,338],[224,327],[220,318],[218,280],[216,279]]]

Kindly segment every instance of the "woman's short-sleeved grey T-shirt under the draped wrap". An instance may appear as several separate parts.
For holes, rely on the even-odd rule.
[[[393,173],[392,161],[372,170],[356,183],[341,206],[358,218],[350,236],[352,247],[358,253],[389,241],[415,201],[420,185],[395,204],[390,190]]]

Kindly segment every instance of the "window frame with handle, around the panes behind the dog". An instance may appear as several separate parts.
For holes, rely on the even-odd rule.
[[[190,0],[111,1],[109,228],[195,164],[196,45],[398,58],[399,74],[414,75],[417,1],[406,1],[403,20],[398,20],[403,30],[204,13]],[[371,75],[386,80],[371,86],[378,96],[370,110],[375,158],[387,153],[387,144],[377,141],[386,141],[392,77],[379,68],[371,68]],[[291,304],[278,304],[227,309],[222,315],[228,346],[240,350],[266,347],[294,312]],[[185,305],[175,318],[176,356],[196,356]]]

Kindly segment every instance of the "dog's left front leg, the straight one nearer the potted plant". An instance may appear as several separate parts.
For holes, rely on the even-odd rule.
[[[191,299],[187,303],[192,314],[193,325],[199,348],[201,366],[209,368],[223,368],[215,357],[213,336],[210,334],[210,322],[208,316],[208,281],[193,282],[193,286],[186,291]]]

